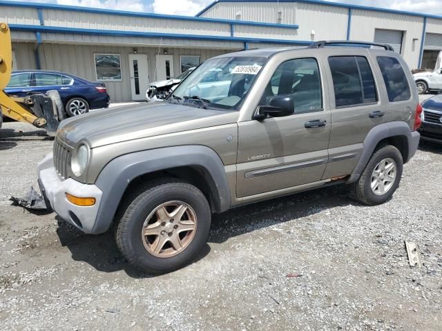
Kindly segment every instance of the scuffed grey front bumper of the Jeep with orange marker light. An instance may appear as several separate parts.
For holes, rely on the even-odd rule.
[[[37,172],[41,193],[44,195],[46,204],[49,203],[52,210],[68,223],[85,233],[93,233],[99,204],[102,200],[102,190],[96,185],[80,183],[71,178],[61,181],[55,171],[52,153],[38,164]],[[95,204],[87,207],[74,205],[68,201],[66,193],[75,197],[95,198]]]

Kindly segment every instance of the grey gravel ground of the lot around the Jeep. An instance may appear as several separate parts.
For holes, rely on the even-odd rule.
[[[2,330],[442,330],[441,146],[421,146],[384,205],[336,186],[216,215],[200,259],[157,277],[111,233],[10,205],[51,147],[26,124],[0,130]]]

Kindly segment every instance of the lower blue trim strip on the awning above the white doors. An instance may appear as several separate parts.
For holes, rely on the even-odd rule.
[[[280,43],[280,44],[289,44],[289,45],[311,44],[311,41],[245,38],[245,37],[229,37],[229,36],[224,37],[224,36],[209,36],[202,34],[177,34],[177,33],[138,32],[138,31],[121,31],[121,30],[95,30],[95,29],[81,29],[81,28],[63,28],[58,26],[29,26],[23,24],[10,24],[9,27],[11,30],[17,30],[17,31],[99,34],[99,35],[117,36],[117,37],[198,39],[198,40],[210,40],[210,41],[236,41],[241,43]]]

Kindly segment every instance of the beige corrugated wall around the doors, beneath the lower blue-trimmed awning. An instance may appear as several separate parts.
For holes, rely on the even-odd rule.
[[[13,43],[17,57],[17,68],[35,69],[34,45],[32,43]],[[230,52],[230,50],[198,50],[186,48],[168,48],[167,54],[173,55],[173,67],[175,76],[180,74],[180,55],[198,55],[201,61],[205,61],[216,55]],[[153,81],[155,74],[155,55],[158,48],[138,48],[138,54],[148,55],[148,74],[149,81]],[[162,49],[164,52],[164,49]],[[160,52],[160,54],[163,54]],[[111,101],[130,101],[131,86],[129,82],[129,63],[128,54],[133,54],[133,48],[122,46],[85,46],[85,45],[60,45],[60,44],[42,44],[39,54],[41,69],[59,70],[83,77],[90,81],[96,81],[95,77],[95,53],[120,54],[122,66],[122,81],[106,81],[106,87],[111,95]]]

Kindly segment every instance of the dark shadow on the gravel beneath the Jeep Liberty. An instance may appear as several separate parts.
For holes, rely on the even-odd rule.
[[[236,208],[213,216],[209,243],[223,243],[231,237],[350,203],[354,201],[347,197],[345,186],[339,185]],[[154,277],[128,264],[119,253],[112,230],[105,234],[88,235],[58,217],[57,220],[61,245],[67,246],[75,261],[84,261],[103,272],[124,270],[133,278]],[[204,245],[196,261],[209,252],[210,246]]]

